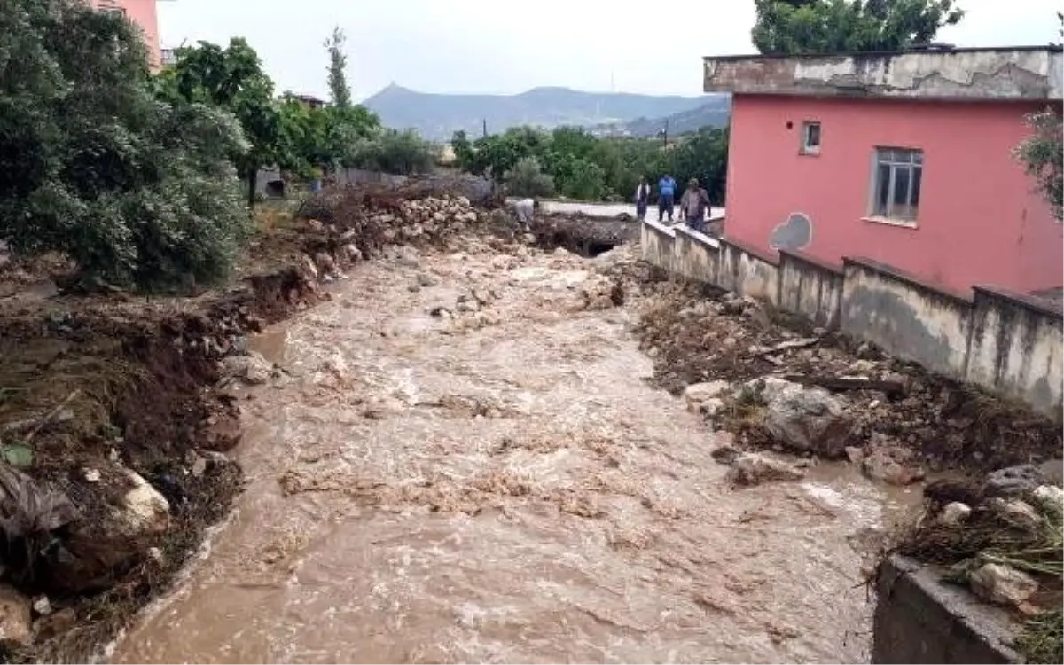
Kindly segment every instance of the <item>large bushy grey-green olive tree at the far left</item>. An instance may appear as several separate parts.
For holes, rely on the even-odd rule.
[[[77,0],[0,2],[0,237],[161,288],[222,278],[247,230],[231,116],[157,101],[132,23]]]

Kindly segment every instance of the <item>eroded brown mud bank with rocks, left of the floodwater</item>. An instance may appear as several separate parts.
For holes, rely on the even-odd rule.
[[[3,659],[83,659],[165,588],[242,485],[218,361],[313,300],[280,269],[200,299],[0,311]]]

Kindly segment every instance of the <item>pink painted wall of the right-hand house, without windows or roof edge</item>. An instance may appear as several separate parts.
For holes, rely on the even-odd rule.
[[[1012,152],[1037,109],[735,95],[726,235],[767,251],[801,213],[812,222],[801,251],[824,261],[865,256],[954,290],[1062,286],[1064,223]],[[803,121],[820,122],[817,155],[800,153]],[[865,219],[877,146],[924,151],[916,228]]]

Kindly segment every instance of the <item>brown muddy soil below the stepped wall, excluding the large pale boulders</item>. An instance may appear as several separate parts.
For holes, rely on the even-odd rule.
[[[981,471],[1060,454],[1064,428],[1020,404],[886,358],[867,344],[814,330],[749,299],[668,281],[638,326],[643,348],[655,359],[654,381],[674,394],[704,381],[744,382],[764,376],[861,377],[899,382],[884,395],[849,390],[845,400],[857,447],[888,438],[917,451],[932,471]],[[772,353],[785,342],[816,338],[801,349]],[[732,422],[741,440],[772,447],[757,420]]]

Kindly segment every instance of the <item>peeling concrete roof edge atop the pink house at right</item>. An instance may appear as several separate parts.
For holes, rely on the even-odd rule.
[[[910,99],[1064,99],[1064,51],[1051,47],[851,55],[708,57],[706,93]]]

